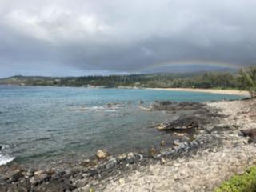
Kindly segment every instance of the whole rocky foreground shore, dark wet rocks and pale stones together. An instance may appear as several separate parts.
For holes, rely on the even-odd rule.
[[[254,142],[240,132],[256,128],[256,100],[155,102],[151,110],[190,111],[157,127],[177,135],[172,146],[98,151],[97,158],[46,170],[0,166],[0,191],[212,191],[256,163]]]

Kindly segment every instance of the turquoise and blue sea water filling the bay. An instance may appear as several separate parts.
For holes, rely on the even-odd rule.
[[[86,158],[146,149],[166,134],[152,126],[171,118],[138,107],[154,100],[205,102],[241,98],[165,90],[0,86],[0,164]],[[108,104],[110,103],[110,104]],[[115,104],[113,104],[115,103]]]

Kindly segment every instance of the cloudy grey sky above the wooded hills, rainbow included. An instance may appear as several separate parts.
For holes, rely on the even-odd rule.
[[[234,70],[256,0],[0,0],[0,78]]]

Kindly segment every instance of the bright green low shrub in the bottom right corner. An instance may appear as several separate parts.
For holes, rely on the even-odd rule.
[[[223,182],[215,192],[254,192],[256,191],[256,166],[250,167],[244,174],[234,175]]]

